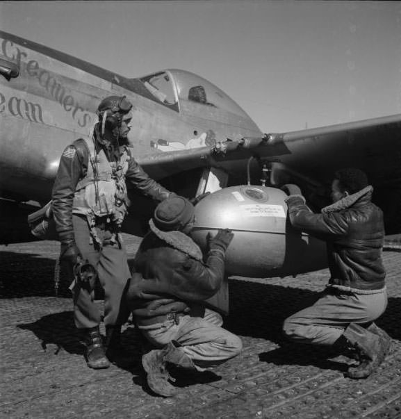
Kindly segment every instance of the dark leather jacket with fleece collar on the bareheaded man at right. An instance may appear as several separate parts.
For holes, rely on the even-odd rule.
[[[383,290],[383,213],[371,202],[371,186],[314,214],[304,198],[286,199],[290,222],[296,229],[325,240],[331,278],[329,286],[355,293]]]

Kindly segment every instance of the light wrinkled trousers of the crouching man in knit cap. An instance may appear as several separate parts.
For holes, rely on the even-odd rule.
[[[158,348],[175,340],[193,361],[195,368],[203,371],[234,358],[243,348],[240,338],[223,329],[222,322],[220,314],[206,309],[203,318],[183,315],[178,324],[174,320],[166,320],[140,326],[139,329]]]

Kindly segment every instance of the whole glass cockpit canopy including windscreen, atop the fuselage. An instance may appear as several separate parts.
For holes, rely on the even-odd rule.
[[[177,111],[183,108],[185,102],[190,102],[249,118],[233,99],[197,74],[180,69],[169,69],[141,77],[140,81],[154,98]]]

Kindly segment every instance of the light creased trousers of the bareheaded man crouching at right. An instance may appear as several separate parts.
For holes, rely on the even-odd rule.
[[[368,326],[386,307],[385,289],[355,294],[327,287],[311,306],[284,320],[284,335],[300,343],[333,345],[350,323]]]

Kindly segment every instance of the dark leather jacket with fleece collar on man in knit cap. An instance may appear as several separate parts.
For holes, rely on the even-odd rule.
[[[160,315],[173,312],[202,315],[206,299],[222,285],[224,252],[211,250],[205,260],[189,236],[180,231],[160,234],[151,221],[127,292],[138,325],[159,322]]]

